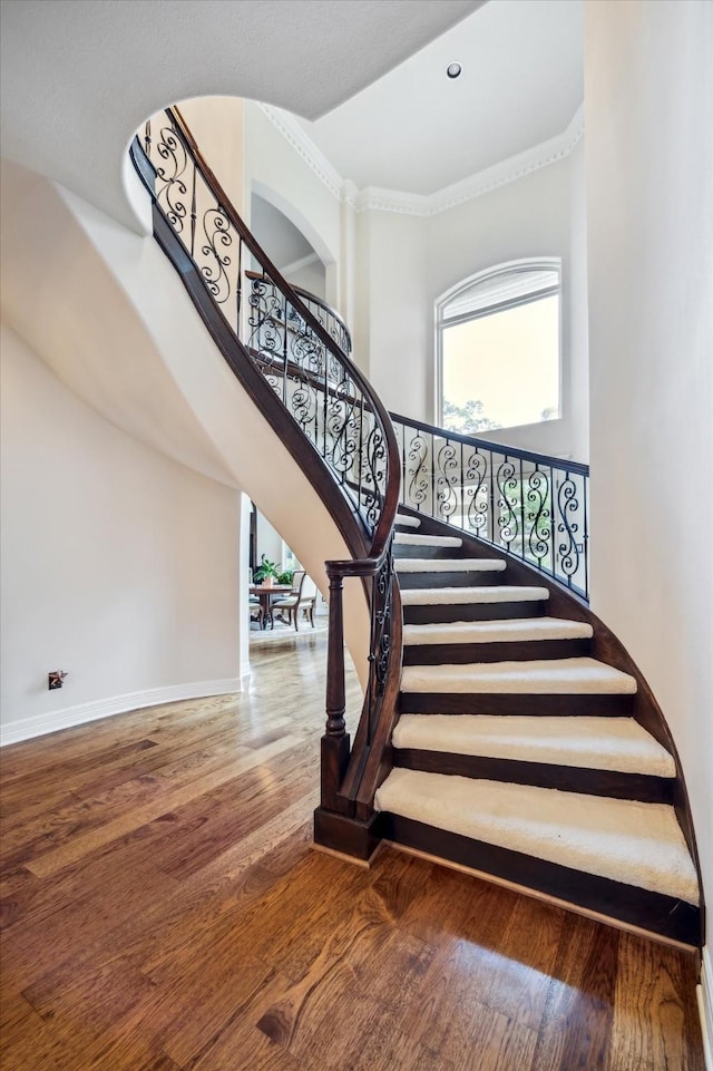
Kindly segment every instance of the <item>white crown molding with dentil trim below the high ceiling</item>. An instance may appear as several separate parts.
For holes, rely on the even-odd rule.
[[[260,104],[258,107],[328,189],[355,212],[394,212],[412,216],[438,215],[516,182],[518,178],[524,178],[525,175],[530,175],[541,167],[549,167],[550,164],[566,159],[584,135],[584,105],[580,105],[561,134],[468,178],[445,186],[436,193],[413,194],[379,186],[358,189],[351,179],[341,177],[293,116],[271,105]]]

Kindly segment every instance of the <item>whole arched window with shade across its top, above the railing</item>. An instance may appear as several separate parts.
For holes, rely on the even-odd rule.
[[[439,416],[478,435],[559,417],[560,261],[499,264],[436,304]]]

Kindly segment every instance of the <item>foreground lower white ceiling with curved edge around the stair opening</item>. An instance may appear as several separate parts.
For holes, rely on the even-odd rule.
[[[2,155],[136,226],[144,119],[194,96],[334,108],[482,0],[2,0]]]

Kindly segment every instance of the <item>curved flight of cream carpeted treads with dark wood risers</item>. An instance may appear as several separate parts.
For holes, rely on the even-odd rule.
[[[673,756],[633,714],[636,678],[590,656],[594,627],[549,590],[412,513],[397,517],[403,603],[382,835],[607,921],[699,939],[699,883]]]

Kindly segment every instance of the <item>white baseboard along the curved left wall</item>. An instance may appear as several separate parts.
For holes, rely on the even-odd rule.
[[[203,699],[207,695],[229,695],[242,692],[243,682],[250,675],[250,670],[242,676],[228,678],[222,681],[195,681],[191,684],[169,684],[167,688],[149,688],[143,692],[129,692],[126,695],[115,695],[113,699],[100,699],[92,703],[81,703],[78,707],[66,707],[47,714],[37,714],[22,721],[11,721],[0,728],[0,747],[43,737],[48,732],[59,729],[71,729],[84,726],[99,718],[113,714],[124,714],[128,710],[141,707],[158,707],[160,703],[176,703],[184,699]]]

